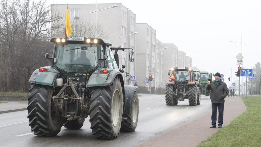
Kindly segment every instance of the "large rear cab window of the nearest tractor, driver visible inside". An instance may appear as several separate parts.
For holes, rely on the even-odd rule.
[[[98,65],[97,45],[57,44],[55,66],[69,73],[86,73]]]

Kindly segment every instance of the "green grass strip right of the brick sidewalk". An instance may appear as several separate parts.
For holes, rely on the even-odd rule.
[[[261,97],[241,99],[247,111],[198,146],[261,146]]]

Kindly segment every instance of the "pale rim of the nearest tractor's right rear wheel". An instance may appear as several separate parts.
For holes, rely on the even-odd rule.
[[[111,117],[112,123],[116,127],[120,117],[120,92],[118,89],[114,91],[112,97]]]

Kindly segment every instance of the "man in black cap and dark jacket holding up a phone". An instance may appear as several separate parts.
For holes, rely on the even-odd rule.
[[[226,83],[221,79],[219,73],[215,74],[215,81],[208,81],[207,90],[211,90],[210,99],[212,103],[212,126],[210,128],[216,128],[216,112],[218,108],[218,128],[222,128],[223,125],[223,114],[224,114],[224,103],[225,97],[228,95],[228,89]]]

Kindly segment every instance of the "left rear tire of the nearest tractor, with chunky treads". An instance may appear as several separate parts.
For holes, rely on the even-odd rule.
[[[53,87],[32,84],[28,97],[29,126],[35,135],[55,136],[61,131],[63,118],[52,101]]]

